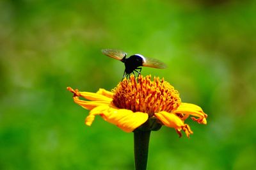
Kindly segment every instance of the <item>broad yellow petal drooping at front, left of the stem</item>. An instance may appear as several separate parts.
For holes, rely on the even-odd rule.
[[[125,132],[132,132],[148,120],[148,114],[144,112],[132,112],[127,109],[117,109],[111,105],[100,105],[92,109],[90,115],[86,118],[86,125],[91,125],[97,114]]]

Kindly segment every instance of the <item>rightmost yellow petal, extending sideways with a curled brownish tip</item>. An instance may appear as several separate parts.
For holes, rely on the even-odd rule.
[[[186,118],[188,118],[188,115],[186,114],[196,116],[198,119],[192,118],[192,120],[197,121],[198,123],[207,124],[207,114],[204,113],[201,107],[195,104],[181,103],[173,113],[185,114]]]

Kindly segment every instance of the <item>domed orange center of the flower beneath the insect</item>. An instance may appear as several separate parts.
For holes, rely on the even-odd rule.
[[[129,109],[133,112],[147,112],[150,117],[155,112],[171,112],[179,107],[181,100],[179,92],[164,79],[151,75],[140,75],[135,79],[124,79],[113,89],[113,104],[120,109]]]

